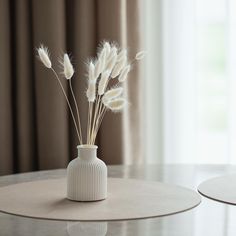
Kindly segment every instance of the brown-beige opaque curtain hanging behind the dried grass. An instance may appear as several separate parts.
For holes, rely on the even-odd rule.
[[[128,47],[134,57],[142,49],[140,12],[139,0],[0,0],[1,175],[65,168],[76,157],[65,99],[35,48],[47,45],[53,59],[65,51],[73,55],[73,87],[85,130],[84,63],[104,39]],[[131,105],[123,114],[107,114],[98,135],[99,157],[107,164],[142,162],[140,74],[134,66],[125,85]]]

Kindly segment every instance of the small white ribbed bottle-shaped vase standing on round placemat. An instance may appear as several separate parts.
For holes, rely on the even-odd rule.
[[[98,201],[107,197],[107,167],[97,158],[97,146],[79,145],[78,157],[67,167],[67,198]]]

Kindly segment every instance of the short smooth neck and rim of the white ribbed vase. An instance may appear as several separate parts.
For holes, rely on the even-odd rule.
[[[78,158],[86,161],[92,161],[97,157],[97,146],[96,145],[79,145]]]

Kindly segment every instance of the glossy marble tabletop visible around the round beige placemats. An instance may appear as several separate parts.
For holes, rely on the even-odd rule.
[[[0,177],[0,187],[9,184],[61,178],[63,169],[31,172]],[[236,173],[230,165],[140,165],[109,166],[109,177],[135,178],[177,184],[197,189],[202,181]],[[163,235],[163,236],[235,236],[236,206],[202,197],[202,203],[187,212],[166,217],[114,222],[63,222],[39,220],[0,213],[0,235],[3,236],[81,236],[81,235]]]

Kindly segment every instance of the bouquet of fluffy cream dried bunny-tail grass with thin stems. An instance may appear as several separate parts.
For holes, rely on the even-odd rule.
[[[63,76],[69,81],[69,88],[76,112],[73,111],[61,80],[52,67],[48,49],[41,45],[37,49],[37,52],[39,59],[45,67],[51,69],[54,73],[68,104],[79,143],[84,144],[79,108],[71,84],[74,68],[68,54],[64,54],[61,64],[63,66]],[[132,63],[135,60],[141,60],[144,55],[144,51],[138,52],[132,62],[129,63],[126,49],[119,50],[114,44],[103,42],[98,48],[97,57],[88,63],[88,82],[86,90],[88,99],[88,122],[86,144],[93,145],[95,143],[99,127],[108,110],[120,112],[127,105],[127,100],[123,97],[122,83],[126,81]],[[113,82],[113,86],[111,87],[109,86],[109,82],[113,79],[117,80],[115,85]]]

